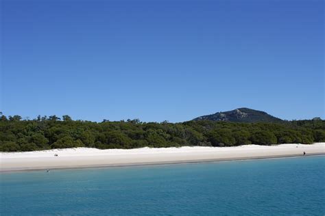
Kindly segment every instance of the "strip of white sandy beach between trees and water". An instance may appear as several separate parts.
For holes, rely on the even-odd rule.
[[[307,156],[325,154],[325,143],[248,145],[225,148],[199,146],[131,150],[69,148],[36,152],[1,152],[0,172],[296,157],[302,156],[303,152],[306,152]],[[54,154],[58,154],[58,157],[54,157]]]

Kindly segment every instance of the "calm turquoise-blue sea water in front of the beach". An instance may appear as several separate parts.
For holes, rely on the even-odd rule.
[[[1,174],[1,215],[324,215],[325,157]]]

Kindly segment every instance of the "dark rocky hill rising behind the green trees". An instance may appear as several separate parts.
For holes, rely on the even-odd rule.
[[[265,111],[258,111],[249,108],[239,108],[232,111],[217,112],[212,115],[200,116],[193,119],[199,120],[212,120],[223,122],[282,122],[280,118],[269,115]]]

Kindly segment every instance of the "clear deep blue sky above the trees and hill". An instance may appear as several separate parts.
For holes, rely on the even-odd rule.
[[[3,114],[324,115],[324,1],[1,0]]]

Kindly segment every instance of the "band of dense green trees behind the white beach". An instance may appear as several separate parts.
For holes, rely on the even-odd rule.
[[[90,122],[69,116],[1,116],[0,151],[19,152],[53,148],[154,148],[180,146],[312,144],[325,141],[325,121],[238,123],[211,120],[182,123]]]

